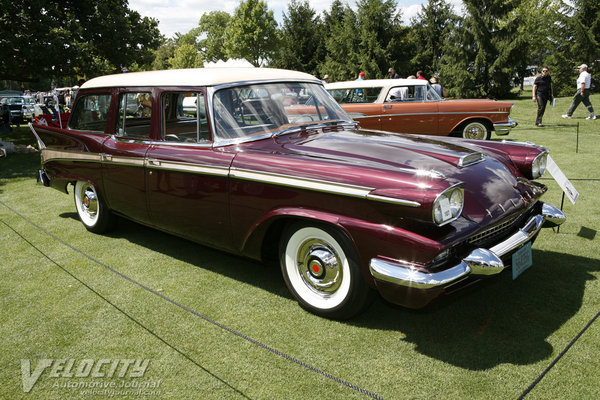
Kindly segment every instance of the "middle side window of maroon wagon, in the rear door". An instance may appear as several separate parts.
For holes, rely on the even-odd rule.
[[[117,136],[135,139],[150,137],[152,94],[150,92],[122,93],[119,96]]]

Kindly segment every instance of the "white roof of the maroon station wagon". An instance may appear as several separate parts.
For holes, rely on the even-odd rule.
[[[321,81],[304,72],[273,68],[189,68],[127,72],[90,79],[81,89],[106,87],[215,86],[252,81]]]

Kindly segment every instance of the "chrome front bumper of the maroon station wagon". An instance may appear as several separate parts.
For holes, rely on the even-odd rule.
[[[380,281],[417,289],[431,289],[451,286],[467,276],[487,276],[500,273],[504,263],[500,259],[505,254],[529,242],[542,227],[558,226],[566,220],[558,208],[549,204],[542,206],[541,214],[529,218],[527,223],[511,237],[490,249],[473,250],[459,264],[440,272],[422,272],[414,265],[404,262],[391,262],[379,258],[371,259],[371,275]]]

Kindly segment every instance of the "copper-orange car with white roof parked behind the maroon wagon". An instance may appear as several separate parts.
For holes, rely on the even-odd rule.
[[[329,94],[364,129],[490,139],[517,125],[513,103],[444,100],[422,79],[371,79],[325,85]]]

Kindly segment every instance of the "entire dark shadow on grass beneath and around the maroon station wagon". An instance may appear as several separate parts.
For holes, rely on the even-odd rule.
[[[76,220],[77,214],[63,213],[61,217]],[[230,255],[124,219],[108,236],[294,301],[278,266]],[[533,251],[533,259],[534,265],[516,280],[505,271],[433,310],[412,311],[377,299],[363,314],[344,323],[395,331],[398,351],[405,349],[405,342],[411,342],[423,355],[469,370],[539,362],[553,352],[547,339],[582,307],[586,282],[596,279],[593,273],[600,271],[600,261],[539,250]],[[305,312],[299,306],[297,310]],[[388,350],[396,351],[393,346]]]

